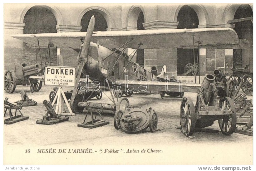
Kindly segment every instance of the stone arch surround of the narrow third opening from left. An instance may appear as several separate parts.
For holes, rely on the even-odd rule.
[[[125,27],[137,27],[137,21],[138,17],[140,15],[140,12],[142,11],[144,16],[144,21],[146,21],[145,18],[145,12],[144,9],[141,6],[132,6],[130,7],[127,17],[126,17],[126,25]]]

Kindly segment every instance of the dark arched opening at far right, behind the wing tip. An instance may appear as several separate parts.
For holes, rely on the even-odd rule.
[[[252,8],[249,5],[241,5],[235,12],[234,20],[253,17]],[[252,71],[252,45],[253,45],[253,23],[251,20],[239,21],[234,22],[235,27],[234,30],[236,31],[239,39],[247,39],[250,42],[249,49],[234,49],[233,50],[233,67],[243,68],[246,65],[249,65]]]

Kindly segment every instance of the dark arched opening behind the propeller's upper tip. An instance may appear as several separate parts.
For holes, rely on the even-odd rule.
[[[87,31],[89,21],[91,19],[91,16],[93,15],[95,17],[94,31],[107,31],[108,25],[103,15],[97,10],[90,10],[86,12],[81,19],[81,26],[82,26],[81,32]]]

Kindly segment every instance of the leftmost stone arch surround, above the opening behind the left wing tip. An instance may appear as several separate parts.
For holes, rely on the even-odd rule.
[[[24,8],[21,12],[21,15],[20,15],[20,22],[22,23],[24,21],[24,17],[27,13],[27,11],[32,8],[32,7],[45,7],[47,8],[48,10],[50,10],[53,15],[55,16],[56,18],[56,21],[57,21],[57,25],[59,24],[62,24],[63,23],[63,17],[62,17],[62,14],[60,12],[59,9],[57,9],[56,7],[50,7],[50,6],[47,6],[47,5],[31,5],[31,6],[27,6],[26,8]]]

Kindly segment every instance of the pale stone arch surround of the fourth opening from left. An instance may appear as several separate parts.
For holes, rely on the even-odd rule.
[[[194,11],[196,12],[196,14],[198,16],[199,25],[205,25],[205,24],[209,23],[208,13],[207,13],[206,9],[204,8],[204,6],[202,6],[202,5],[193,5],[193,4],[185,4],[185,5],[194,9]],[[177,21],[179,11],[183,6],[184,5],[179,5],[178,6],[178,8],[175,11],[173,21]]]

